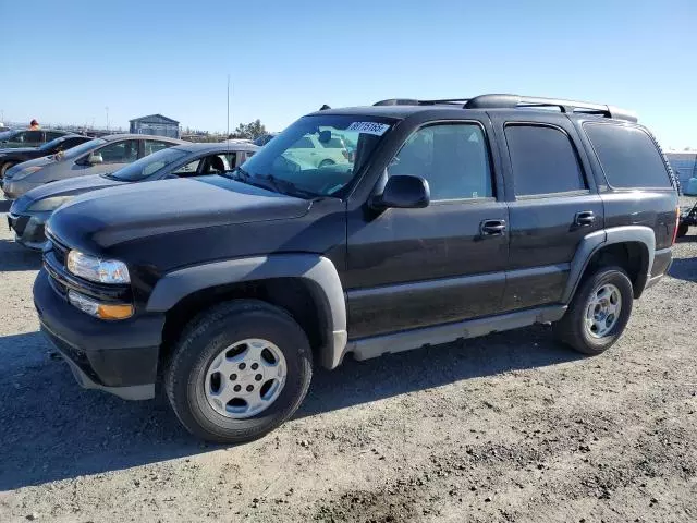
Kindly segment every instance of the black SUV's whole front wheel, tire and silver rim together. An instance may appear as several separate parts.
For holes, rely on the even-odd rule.
[[[283,309],[241,300],[184,329],[167,369],[167,394],[193,435],[242,443],[297,410],[313,375],[307,336]]]

